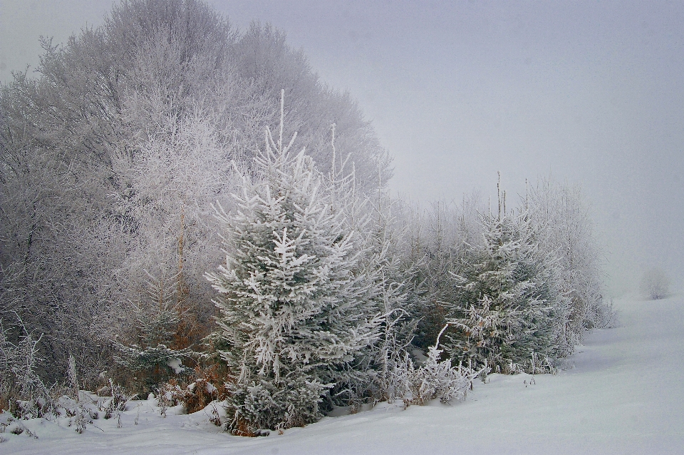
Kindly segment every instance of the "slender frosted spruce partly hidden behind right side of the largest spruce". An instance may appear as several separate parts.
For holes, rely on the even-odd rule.
[[[357,273],[375,282],[375,287],[367,287],[366,311],[378,315],[379,322],[377,342],[362,349],[353,371],[336,381],[331,396],[334,404],[355,406],[368,399],[402,398],[401,383],[408,374],[405,354],[418,322],[412,316],[415,301],[420,298],[417,267],[407,251],[408,228],[395,216],[398,201],[384,190],[382,172],[378,172],[378,186],[372,197],[354,196],[358,193],[356,172],[345,169],[350,156],[344,159],[336,150],[334,123],[331,133],[333,165],[327,176],[331,205],[343,211],[347,222],[363,235],[364,253]]]

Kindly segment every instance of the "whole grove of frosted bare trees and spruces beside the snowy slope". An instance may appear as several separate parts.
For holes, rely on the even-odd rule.
[[[255,435],[551,372],[610,316],[579,189],[391,198],[371,124],[269,25],[125,0],[43,48],[0,93],[4,408],[72,370],[189,411],[204,382]]]

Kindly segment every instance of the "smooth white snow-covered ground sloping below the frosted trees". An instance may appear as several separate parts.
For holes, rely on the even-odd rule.
[[[589,334],[574,367],[536,384],[526,374],[493,374],[457,404],[383,403],[244,438],[212,425],[208,411],[162,418],[154,402],[140,401],[120,429],[115,419],[97,419],[83,434],[25,421],[38,439],[5,432],[0,454],[682,454],[684,298],[616,307],[621,327]]]

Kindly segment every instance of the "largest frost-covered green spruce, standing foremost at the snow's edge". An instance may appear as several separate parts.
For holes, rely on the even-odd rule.
[[[321,417],[323,396],[353,375],[355,358],[378,337],[369,308],[375,283],[366,252],[331,190],[301,150],[270,131],[244,177],[237,210],[224,213],[226,263],[207,275],[219,291],[211,341],[227,362],[227,429],[301,426]]]

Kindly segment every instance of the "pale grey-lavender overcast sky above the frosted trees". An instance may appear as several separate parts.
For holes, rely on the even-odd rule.
[[[98,26],[114,1],[0,0],[0,79],[38,36]],[[232,1],[286,31],[348,90],[415,200],[581,183],[620,294],[645,267],[684,276],[684,1]],[[512,205],[512,202],[510,203]]]

